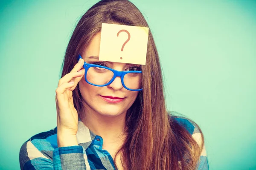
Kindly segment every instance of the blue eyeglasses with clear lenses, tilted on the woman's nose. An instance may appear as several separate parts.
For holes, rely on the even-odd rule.
[[[82,59],[79,55],[78,60]],[[124,88],[130,91],[141,91],[142,75],[141,71],[117,71],[102,65],[88,64],[84,62],[84,79],[90,85],[103,87],[111,84],[116,77],[121,77]]]

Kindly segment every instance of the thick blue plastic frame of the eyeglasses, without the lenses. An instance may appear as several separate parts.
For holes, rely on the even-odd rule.
[[[79,55],[78,60],[79,60],[79,59],[82,59],[81,55]],[[84,62],[83,67],[84,67],[84,69],[85,69],[84,79],[85,79],[85,81],[86,81],[87,83],[89,83],[90,85],[95,85],[95,86],[103,87],[103,86],[106,86],[106,85],[110,85],[110,84],[114,81],[114,79],[116,79],[116,77],[121,77],[122,85],[123,85],[123,87],[126,88],[127,90],[129,90],[129,91],[141,91],[141,90],[143,89],[143,88],[141,88],[141,89],[136,89],[136,90],[130,89],[130,88],[126,87],[126,86],[125,86],[125,83],[124,83],[125,74],[128,74],[128,73],[142,73],[142,71],[117,71],[117,70],[114,70],[114,69],[112,69],[112,68],[108,68],[108,67],[101,66],[101,65],[96,65],[96,64],[89,64],[89,63],[87,63],[87,62]],[[88,71],[88,69],[89,69],[90,67],[105,68],[105,69],[108,69],[108,70],[112,71],[114,75],[113,75],[112,79],[111,79],[107,84],[105,84],[105,85],[96,85],[96,84],[93,84],[93,83],[88,82],[88,80],[87,80],[87,78],[86,78],[87,71]]]

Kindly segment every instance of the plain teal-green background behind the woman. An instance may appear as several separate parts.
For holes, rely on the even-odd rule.
[[[55,89],[96,0],[0,1],[0,169],[56,126]],[[132,0],[153,33],[169,110],[201,127],[210,170],[256,170],[256,1]]]

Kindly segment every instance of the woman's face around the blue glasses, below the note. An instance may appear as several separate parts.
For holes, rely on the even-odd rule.
[[[129,68],[133,69],[134,67],[140,67],[140,65],[134,64],[99,61],[100,36],[100,32],[96,34],[85,49],[84,53],[81,54],[81,57],[85,62],[90,64],[99,64],[99,62],[104,62],[104,64],[100,64],[113,68],[117,71],[129,71]],[[136,68],[134,70],[136,70]],[[138,91],[129,91],[124,88],[120,77],[116,77],[110,85],[103,87],[90,85],[83,77],[79,82],[79,89],[81,96],[86,102],[85,108],[90,112],[104,116],[119,116],[122,113],[126,113],[138,95]],[[108,98],[104,98],[102,96],[112,96],[123,99],[119,101],[110,101]]]

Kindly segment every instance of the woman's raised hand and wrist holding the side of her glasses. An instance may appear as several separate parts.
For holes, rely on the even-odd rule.
[[[80,59],[70,73],[62,77],[56,89],[57,109],[57,136],[68,139],[76,136],[78,128],[78,113],[73,103],[73,90],[78,82],[84,77],[84,59]],[[79,72],[78,72],[79,71]],[[63,141],[63,140],[61,140]]]

